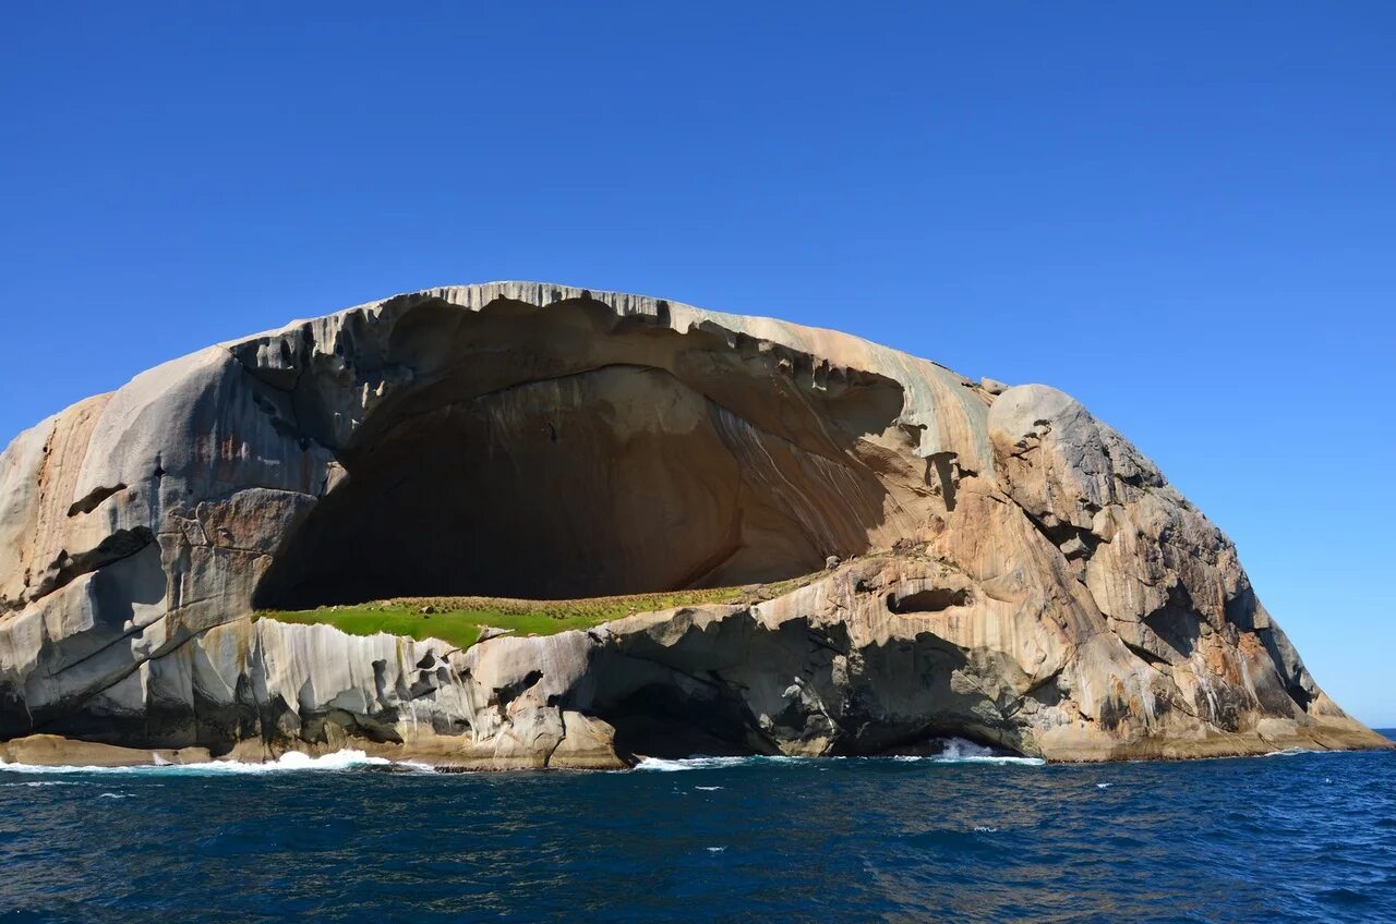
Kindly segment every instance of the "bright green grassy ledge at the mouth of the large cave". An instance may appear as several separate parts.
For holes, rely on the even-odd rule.
[[[585,600],[512,600],[507,597],[398,597],[314,610],[261,610],[254,620],[303,625],[334,625],[349,635],[406,635],[417,641],[438,638],[469,648],[486,625],[512,629],[515,635],[554,635],[585,629],[637,613],[653,613],[701,603],[755,603],[789,593],[814,575],[778,583],[708,590],[637,593]],[[424,611],[426,610],[426,611]]]

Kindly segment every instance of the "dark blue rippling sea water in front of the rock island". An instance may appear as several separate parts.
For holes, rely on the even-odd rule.
[[[4,768],[0,921],[1396,921],[1396,752],[346,763]]]

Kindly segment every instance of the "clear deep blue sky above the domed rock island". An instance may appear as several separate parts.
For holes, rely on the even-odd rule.
[[[6,11],[0,442],[436,285],[840,328],[1081,398],[1396,726],[1396,4],[376,6]]]

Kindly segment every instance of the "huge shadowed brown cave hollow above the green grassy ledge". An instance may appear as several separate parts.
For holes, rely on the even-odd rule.
[[[336,447],[348,477],[255,604],[737,585],[875,542],[895,504],[872,468],[885,448],[868,451],[896,433],[895,382],[602,308],[426,301],[398,318],[369,371],[410,387]],[[345,380],[303,382],[302,416],[363,388]]]

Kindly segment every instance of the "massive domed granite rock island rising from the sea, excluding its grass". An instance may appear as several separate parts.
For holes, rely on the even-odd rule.
[[[406,593],[758,585],[443,642],[253,623]],[[761,595],[757,593],[759,597]],[[0,737],[459,766],[1382,747],[1235,549],[1043,385],[766,318],[437,289],[159,366],[0,455]]]

